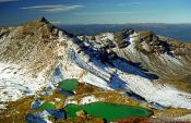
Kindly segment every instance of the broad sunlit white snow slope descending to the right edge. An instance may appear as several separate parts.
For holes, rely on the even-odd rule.
[[[154,85],[152,81],[131,74],[120,74],[128,87],[148,102],[157,102],[165,107],[191,109],[191,95],[177,90],[169,85]]]

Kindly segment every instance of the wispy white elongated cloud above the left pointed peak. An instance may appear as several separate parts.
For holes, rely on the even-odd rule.
[[[75,5],[64,5],[64,4],[55,4],[55,5],[34,5],[34,7],[25,7],[21,8],[23,10],[37,10],[47,13],[53,12],[68,12],[71,10],[75,10],[79,8],[83,8],[84,5],[75,4]]]

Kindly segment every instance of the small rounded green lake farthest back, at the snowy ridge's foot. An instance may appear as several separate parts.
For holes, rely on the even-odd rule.
[[[62,82],[59,83],[59,86],[69,91],[73,91],[75,87],[77,86],[79,82],[75,78],[69,78],[69,79],[63,79]]]

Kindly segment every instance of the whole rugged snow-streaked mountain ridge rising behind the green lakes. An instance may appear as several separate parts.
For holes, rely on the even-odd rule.
[[[148,102],[191,109],[190,94],[158,81],[190,75],[190,45],[167,39],[133,29],[72,36],[44,17],[2,27],[0,101],[16,100],[43,88],[47,94],[62,78],[75,77],[104,89],[129,89]]]

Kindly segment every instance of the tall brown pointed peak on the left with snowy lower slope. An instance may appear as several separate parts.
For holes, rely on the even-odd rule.
[[[1,28],[1,103],[36,95],[44,88],[44,94],[50,93],[63,78],[81,75],[82,69],[69,60],[64,44],[71,38],[64,33],[45,19]]]

